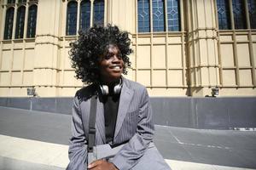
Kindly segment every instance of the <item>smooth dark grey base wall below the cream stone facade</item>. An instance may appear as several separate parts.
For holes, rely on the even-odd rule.
[[[172,127],[256,127],[256,97],[150,98],[154,123]],[[0,105],[71,115],[73,98],[0,98]]]

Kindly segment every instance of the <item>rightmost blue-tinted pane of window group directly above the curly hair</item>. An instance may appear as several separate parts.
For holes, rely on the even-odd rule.
[[[95,0],[93,5],[93,24],[104,25],[104,0]]]

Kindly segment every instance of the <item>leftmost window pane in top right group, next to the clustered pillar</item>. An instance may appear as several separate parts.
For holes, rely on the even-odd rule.
[[[229,0],[217,0],[218,29],[230,30],[230,7]]]

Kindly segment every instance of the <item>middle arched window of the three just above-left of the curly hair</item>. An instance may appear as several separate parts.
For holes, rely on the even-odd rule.
[[[79,29],[87,29],[90,27],[90,0],[84,0],[81,2],[79,23]]]

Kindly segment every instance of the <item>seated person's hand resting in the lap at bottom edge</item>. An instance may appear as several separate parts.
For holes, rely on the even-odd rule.
[[[113,163],[108,162],[108,161],[103,161],[103,160],[97,160],[97,161],[93,161],[92,163],[90,163],[88,165],[88,168],[90,170],[118,170],[117,167],[115,167],[113,165]]]

